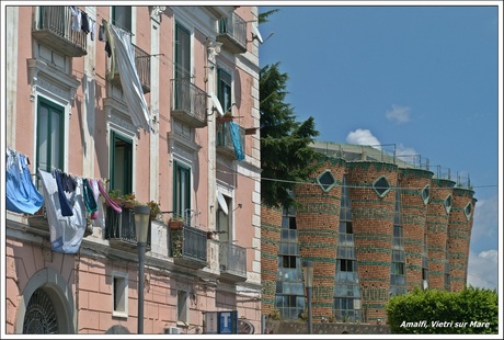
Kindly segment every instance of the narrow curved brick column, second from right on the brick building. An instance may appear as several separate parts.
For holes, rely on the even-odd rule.
[[[433,179],[431,200],[427,205],[427,251],[428,251],[428,287],[445,288],[446,241],[448,239],[448,214],[445,199],[453,193],[454,181]]]

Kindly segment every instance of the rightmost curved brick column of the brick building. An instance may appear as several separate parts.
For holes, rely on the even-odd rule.
[[[455,188],[451,213],[448,223],[448,259],[450,265],[451,291],[462,290],[467,284],[467,267],[469,261],[469,243],[473,223],[476,200],[474,192],[469,189]],[[469,218],[465,213],[471,203]]]

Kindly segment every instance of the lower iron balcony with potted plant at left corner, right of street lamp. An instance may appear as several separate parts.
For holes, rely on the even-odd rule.
[[[207,265],[206,231],[183,223],[180,228],[170,226],[170,256],[173,257],[173,263],[192,269],[202,269]]]

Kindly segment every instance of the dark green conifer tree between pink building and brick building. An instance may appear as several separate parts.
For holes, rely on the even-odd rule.
[[[260,72],[261,197],[264,205],[276,208],[296,206],[289,192],[320,167],[309,146],[319,135],[314,120],[296,121],[293,106],[285,102],[288,75],[278,66],[267,65]]]

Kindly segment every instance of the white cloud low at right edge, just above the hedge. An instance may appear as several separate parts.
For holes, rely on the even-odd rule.
[[[474,287],[493,290],[497,287],[497,250],[490,249],[476,254],[469,253],[467,283]]]

